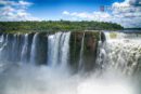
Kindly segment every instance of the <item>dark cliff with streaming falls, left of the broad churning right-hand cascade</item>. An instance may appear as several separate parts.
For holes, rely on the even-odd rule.
[[[77,71],[81,58],[84,69],[91,70],[95,67],[100,38],[99,31],[0,33],[0,59],[51,65],[55,61],[63,64],[66,58]]]

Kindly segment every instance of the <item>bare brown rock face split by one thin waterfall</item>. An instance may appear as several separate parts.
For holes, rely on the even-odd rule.
[[[81,46],[84,38],[84,46]],[[100,33],[98,31],[86,31],[85,36],[82,31],[72,32],[70,36],[70,66],[78,71],[80,50],[84,48],[82,52],[82,66],[85,70],[89,71],[94,68],[97,58],[97,46],[100,40]]]

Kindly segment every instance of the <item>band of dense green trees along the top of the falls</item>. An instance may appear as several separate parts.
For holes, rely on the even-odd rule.
[[[120,25],[104,22],[0,22],[0,31],[119,30]]]

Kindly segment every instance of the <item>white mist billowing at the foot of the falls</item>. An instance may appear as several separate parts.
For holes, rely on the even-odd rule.
[[[0,94],[134,94],[126,79],[108,76],[72,76],[66,69],[27,65],[1,76]]]

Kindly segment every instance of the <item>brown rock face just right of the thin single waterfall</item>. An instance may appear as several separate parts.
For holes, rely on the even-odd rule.
[[[98,41],[98,32],[86,32],[84,46],[84,63],[86,70],[91,70],[95,67]]]

